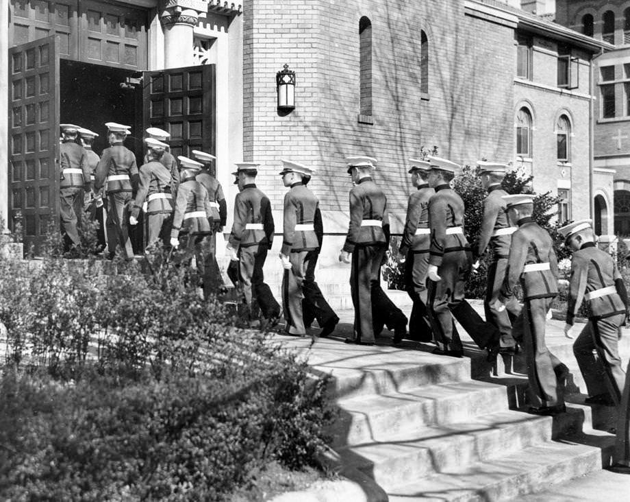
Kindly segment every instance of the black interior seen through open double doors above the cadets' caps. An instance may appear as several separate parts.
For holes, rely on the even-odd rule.
[[[142,92],[133,86],[121,86],[128,77],[139,76],[137,71],[60,60],[60,123],[75,123],[99,134],[93,145],[99,155],[109,146],[105,122],[131,126],[125,146],[136,154],[136,163],[140,167],[143,156]],[[142,249],[142,227],[140,222],[129,228],[136,253]]]

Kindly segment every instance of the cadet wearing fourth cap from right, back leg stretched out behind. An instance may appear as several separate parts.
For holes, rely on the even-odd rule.
[[[464,237],[464,202],[449,182],[459,165],[444,158],[429,157],[429,187],[436,195],[429,199],[429,313],[438,347],[433,353],[462,357],[462,342],[453,316],[479,348],[488,350],[488,359],[499,351],[499,330],[484,322],[464,299],[465,279],[472,256]]]

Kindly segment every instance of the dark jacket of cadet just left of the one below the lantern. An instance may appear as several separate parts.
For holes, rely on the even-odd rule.
[[[262,229],[246,228],[247,224],[262,224]],[[273,215],[269,198],[256,188],[256,185],[246,184],[234,200],[234,224],[229,236],[229,244],[232,248],[239,246],[268,246],[271,249],[273,243]]]

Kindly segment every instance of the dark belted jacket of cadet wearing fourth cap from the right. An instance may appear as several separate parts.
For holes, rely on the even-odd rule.
[[[464,201],[448,184],[436,187],[429,199],[429,265],[442,265],[444,253],[469,249],[464,237]],[[447,233],[447,228],[461,228],[459,233]]]

